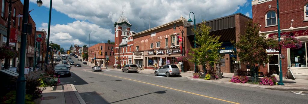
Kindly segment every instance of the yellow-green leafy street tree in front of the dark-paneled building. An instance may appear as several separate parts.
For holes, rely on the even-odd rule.
[[[196,34],[196,44],[199,44],[199,47],[191,48],[188,54],[192,55],[193,58],[189,59],[189,61],[196,62],[202,66],[209,66],[213,70],[214,64],[220,58],[218,48],[222,44],[222,42],[219,42],[221,36],[210,35],[209,30],[211,27],[206,26],[205,21],[199,26],[200,28],[193,29]]]

